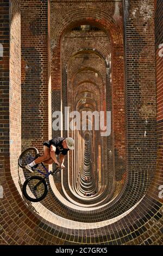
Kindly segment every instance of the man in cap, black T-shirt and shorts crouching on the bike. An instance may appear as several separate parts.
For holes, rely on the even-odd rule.
[[[74,149],[74,140],[71,137],[54,137],[49,141],[43,142],[43,156],[38,157],[32,163],[27,164],[26,169],[33,173],[33,167],[41,162],[52,164],[55,162],[58,167],[65,168],[64,159],[68,150]],[[59,155],[60,154],[60,155]],[[59,155],[60,163],[57,160]]]

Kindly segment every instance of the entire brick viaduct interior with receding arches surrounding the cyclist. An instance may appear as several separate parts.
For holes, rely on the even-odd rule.
[[[162,1],[2,0],[0,10],[0,244],[162,245]],[[67,131],[65,115],[54,131],[65,107],[110,111],[110,135],[91,120]],[[75,149],[32,203],[17,159],[51,136]]]

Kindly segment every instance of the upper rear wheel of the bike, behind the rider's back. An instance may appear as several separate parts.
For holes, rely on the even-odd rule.
[[[23,151],[23,153],[18,158],[18,165],[24,168],[27,164],[33,162],[37,155],[39,155],[39,150],[31,147]]]

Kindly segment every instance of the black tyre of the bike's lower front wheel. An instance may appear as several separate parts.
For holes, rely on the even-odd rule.
[[[41,184],[43,184],[43,186],[44,186],[44,191],[43,191],[42,195],[39,198],[33,198],[33,197],[30,197],[29,194],[27,193],[27,186],[29,186],[29,182],[31,180],[35,180],[36,182],[39,182],[40,180],[42,180],[42,177],[41,176],[31,176],[26,181],[24,181],[24,184],[23,184],[23,195],[30,202],[40,202],[41,200],[43,200],[46,197],[46,195],[48,193],[47,182],[45,180],[42,180]],[[31,185],[30,185],[30,187],[31,187]],[[30,188],[30,193],[33,193],[31,191],[31,188]]]

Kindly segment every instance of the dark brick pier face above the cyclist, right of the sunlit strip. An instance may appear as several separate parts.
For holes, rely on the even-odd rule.
[[[48,64],[48,2],[21,3],[22,149],[42,151],[48,140],[50,72]],[[49,97],[49,99],[48,99]],[[49,130],[50,132],[50,130]]]

